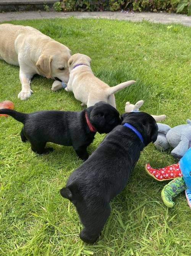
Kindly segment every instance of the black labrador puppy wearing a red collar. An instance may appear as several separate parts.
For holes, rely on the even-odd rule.
[[[87,146],[92,143],[96,131],[110,132],[121,124],[119,112],[110,104],[98,102],[83,111],[37,111],[24,114],[11,109],[0,109],[0,114],[8,114],[24,124],[21,140],[31,143],[31,149],[44,154],[53,151],[46,148],[47,142],[73,146],[76,154],[86,160]]]

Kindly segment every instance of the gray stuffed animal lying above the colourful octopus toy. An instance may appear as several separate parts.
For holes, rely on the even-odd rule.
[[[191,120],[187,119],[186,122],[187,124],[173,128],[167,124],[157,123],[159,130],[157,140],[154,143],[155,147],[160,150],[173,147],[171,155],[176,159],[181,159],[191,147]]]

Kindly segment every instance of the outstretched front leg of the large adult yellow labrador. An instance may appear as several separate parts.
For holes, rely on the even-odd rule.
[[[31,79],[33,77],[34,73],[30,73],[25,69],[22,69],[22,66],[20,66],[19,70],[19,79],[21,81],[22,90],[18,94],[19,99],[28,99],[28,97],[31,96],[32,90],[31,90]]]

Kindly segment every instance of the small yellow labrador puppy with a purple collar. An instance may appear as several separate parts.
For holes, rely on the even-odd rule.
[[[104,101],[116,108],[114,93],[135,81],[110,87],[94,76],[90,62],[91,59],[84,54],[76,53],[70,57],[68,61],[70,79],[65,90],[72,91],[74,97],[82,102],[81,106],[90,107],[99,101]]]

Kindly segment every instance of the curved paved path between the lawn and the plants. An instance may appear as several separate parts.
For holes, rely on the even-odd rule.
[[[151,12],[8,12],[0,13],[0,22],[10,20],[29,20],[43,18],[108,18],[118,20],[141,21],[142,19],[157,23],[181,23],[191,26],[191,16],[175,13]]]

